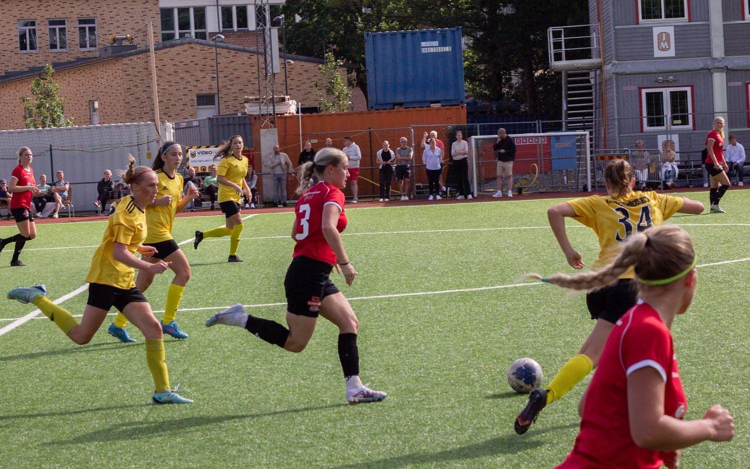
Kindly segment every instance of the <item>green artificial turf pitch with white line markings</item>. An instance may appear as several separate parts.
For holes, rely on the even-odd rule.
[[[688,195],[707,204],[707,191]],[[513,419],[526,396],[511,392],[505,374],[514,359],[530,356],[548,383],[593,326],[584,296],[549,285],[429,292],[570,272],[547,227],[546,209],[557,202],[347,207],[344,244],[359,276],[352,287],[332,278],[359,317],[362,379],[389,392],[376,404],[345,403],[338,330],[322,318],[299,354],[239,328],[203,326],[235,302],[261,305],[249,311],[284,323],[284,306],[266,304],[285,301],[293,214],[245,221],[238,253],[245,263],[226,263],[229,239],[207,239],[198,251],[184,244],[193,276],[177,320],[190,338],[168,338],[166,359],[172,386],[187,386],[195,404],[150,404],[142,335],[133,326],[137,344],[107,335],[110,317],[90,344],[77,346],[49,320],[29,320],[0,335],[0,467],[553,467],[571,449],[589,379],[518,436]],[[723,215],[669,221],[693,236],[699,264],[750,257],[750,191],[730,191],[722,206]],[[178,218],[174,237],[220,224],[220,215]],[[590,266],[594,233],[568,224]],[[85,283],[105,224],[37,226],[21,257],[28,267],[7,266],[11,246],[1,254],[0,289],[40,282],[57,299]],[[0,236],[14,232],[0,227]],[[737,432],[730,443],[686,449],[681,467],[748,467],[750,262],[699,272],[694,305],[673,326],[686,418],[718,402]],[[171,280],[170,272],[160,275],[146,292],[154,310],[163,309]],[[86,296],[62,305],[80,314]],[[2,301],[0,328],[34,309]]]

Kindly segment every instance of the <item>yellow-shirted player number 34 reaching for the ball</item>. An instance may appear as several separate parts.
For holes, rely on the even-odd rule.
[[[657,194],[655,191],[633,191],[635,178],[630,164],[625,160],[614,160],[607,165],[604,182],[607,196],[581,197],[560,203],[547,211],[550,227],[574,269],[583,269],[586,264],[580,252],[568,241],[565,217],[574,218],[594,230],[601,251],[592,269],[610,272],[609,266],[622,251],[625,241],[633,235],[651,226],[661,225],[676,212],[693,215],[703,212],[703,203],[696,200]],[[591,318],[596,320],[594,329],[578,354],[562,365],[549,385],[531,392],[529,403],[515,419],[517,434],[526,433],[544,406],[561,398],[596,367],[615,323],[635,304],[637,291],[632,286],[632,278],[633,269],[626,269],[617,272],[616,278],[607,282],[607,287],[586,293],[586,306]]]

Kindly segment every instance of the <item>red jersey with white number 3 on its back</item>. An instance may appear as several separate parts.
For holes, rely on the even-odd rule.
[[[294,207],[297,234],[293,257],[305,256],[321,262],[335,264],[336,254],[323,236],[323,207],[332,203],[341,210],[336,229],[339,233],[347,227],[344,214],[344,193],[328,182],[318,182],[299,197]]]

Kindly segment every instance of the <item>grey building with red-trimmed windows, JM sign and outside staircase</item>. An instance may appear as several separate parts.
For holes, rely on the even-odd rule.
[[[715,116],[750,143],[748,0],[589,0],[589,25],[551,28],[563,119],[597,149],[661,149],[696,161]]]

